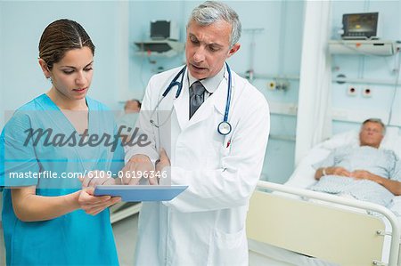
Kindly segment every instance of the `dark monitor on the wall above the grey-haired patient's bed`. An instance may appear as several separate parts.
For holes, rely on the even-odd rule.
[[[344,14],[343,38],[371,38],[377,35],[379,12]]]

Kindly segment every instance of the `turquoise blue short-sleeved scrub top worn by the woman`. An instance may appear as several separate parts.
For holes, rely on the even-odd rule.
[[[98,101],[86,98],[86,103],[89,135],[114,137],[112,113]],[[37,139],[27,137],[29,129],[40,128],[51,129],[51,137],[46,140],[45,133]],[[7,265],[119,264],[108,209],[95,216],[77,210],[44,222],[21,222],[12,209],[11,190],[7,187],[35,185],[37,195],[62,196],[81,187],[77,178],[60,178],[62,173],[117,173],[123,167],[120,142],[114,147],[110,144],[112,139],[108,145],[83,145],[85,141],[80,145],[79,137],[70,120],[45,94],[18,109],[4,126],[0,138],[0,188],[5,186],[2,218]],[[10,177],[10,173],[45,171],[58,178],[32,178],[32,174]]]

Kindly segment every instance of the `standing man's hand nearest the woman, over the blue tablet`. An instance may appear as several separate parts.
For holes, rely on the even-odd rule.
[[[121,170],[121,182],[125,185],[136,185],[142,177],[149,177],[154,174],[154,166],[151,159],[145,155],[137,154],[128,161]]]

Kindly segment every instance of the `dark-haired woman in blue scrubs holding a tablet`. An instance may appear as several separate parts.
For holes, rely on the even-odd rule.
[[[93,145],[115,130],[110,111],[86,97],[94,44],[77,22],[56,20],[39,64],[51,89],[16,110],[0,139],[7,265],[117,265],[104,209],[119,198],[94,197],[79,181],[119,171],[124,157],[120,145]]]

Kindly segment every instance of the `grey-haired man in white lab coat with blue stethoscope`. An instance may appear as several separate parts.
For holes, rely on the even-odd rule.
[[[236,12],[207,1],[192,11],[186,30],[184,76],[176,77],[181,67],[151,77],[137,125],[151,145],[128,149],[123,171],[163,170],[168,178],[151,184],[189,187],[171,201],[143,203],[135,264],[247,265],[245,220],[265,157],[269,109],[225,65],[240,49]]]

